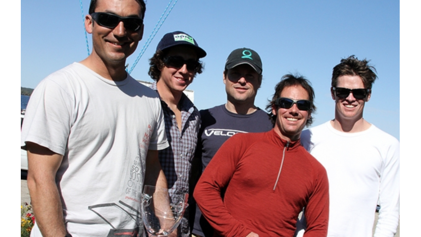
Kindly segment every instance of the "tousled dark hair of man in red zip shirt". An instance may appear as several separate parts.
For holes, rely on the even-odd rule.
[[[311,115],[316,113],[316,106],[314,103],[315,100],[315,91],[313,87],[311,86],[311,83],[309,80],[307,80],[302,75],[292,75],[292,74],[286,74],[282,76],[281,81],[276,84],[275,86],[275,94],[273,94],[272,100],[269,101],[269,104],[266,106],[266,111],[269,113],[270,118],[272,119],[272,122],[275,123],[276,121],[276,115],[272,113],[272,108],[275,107],[275,101],[281,96],[281,93],[283,89],[290,86],[302,86],[304,90],[307,91],[309,94],[309,101],[312,103],[312,109],[310,110]],[[306,126],[310,126],[313,123],[313,117],[310,116],[309,119],[307,119]]]

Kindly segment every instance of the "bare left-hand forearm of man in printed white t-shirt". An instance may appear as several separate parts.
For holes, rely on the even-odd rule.
[[[54,179],[37,178],[29,172],[28,188],[35,219],[43,237],[64,237],[67,231]]]

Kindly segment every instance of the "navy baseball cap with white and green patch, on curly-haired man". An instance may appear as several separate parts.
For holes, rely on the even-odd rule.
[[[173,46],[177,45],[186,45],[192,47],[197,54],[197,57],[204,58],[206,56],[206,52],[199,47],[196,40],[193,39],[190,35],[182,32],[182,31],[174,31],[171,33],[166,33],[161,41],[159,41],[157,46],[157,51],[161,50],[164,51],[166,49],[169,49]]]

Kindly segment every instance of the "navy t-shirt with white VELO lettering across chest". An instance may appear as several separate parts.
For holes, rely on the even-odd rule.
[[[225,105],[201,110],[202,124],[196,148],[196,157],[202,159],[202,171],[208,166],[219,147],[236,133],[265,132],[273,128],[269,115],[259,109],[249,115],[229,112]],[[193,209],[193,208],[192,208]],[[191,215],[193,216],[193,215]],[[193,234],[211,237],[213,230],[196,207]]]

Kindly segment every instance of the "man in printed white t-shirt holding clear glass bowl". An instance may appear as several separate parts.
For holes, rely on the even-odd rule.
[[[167,187],[158,95],[125,71],[143,36],[143,0],[91,0],[92,54],[34,90],[21,132],[33,237],[141,236],[144,184]]]

